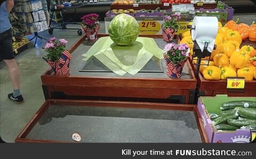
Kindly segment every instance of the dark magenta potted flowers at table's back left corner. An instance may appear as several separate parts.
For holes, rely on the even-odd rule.
[[[95,13],[82,16],[82,30],[89,41],[97,40],[100,23],[98,21],[99,15]]]

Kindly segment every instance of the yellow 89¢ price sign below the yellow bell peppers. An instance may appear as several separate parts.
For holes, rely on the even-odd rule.
[[[244,89],[245,79],[243,77],[228,77],[227,88],[228,89]]]

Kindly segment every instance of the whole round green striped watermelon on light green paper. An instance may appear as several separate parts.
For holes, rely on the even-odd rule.
[[[130,45],[139,36],[139,24],[131,15],[119,14],[108,26],[110,38],[117,45]]]

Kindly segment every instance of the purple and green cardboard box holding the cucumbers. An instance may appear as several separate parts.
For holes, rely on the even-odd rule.
[[[255,97],[228,97],[227,95],[216,95],[215,97],[200,97],[197,107],[203,120],[207,138],[210,143],[249,143],[251,131],[247,129],[237,129],[236,131],[217,131],[212,124],[209,112],[221,112],[220,106],[229,101],[256,101]]]

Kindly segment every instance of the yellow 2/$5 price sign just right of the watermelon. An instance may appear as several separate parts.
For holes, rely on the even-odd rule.
[[[141,21],[139,22],[140,34],[157,34],[161,25],[158,21]]]

